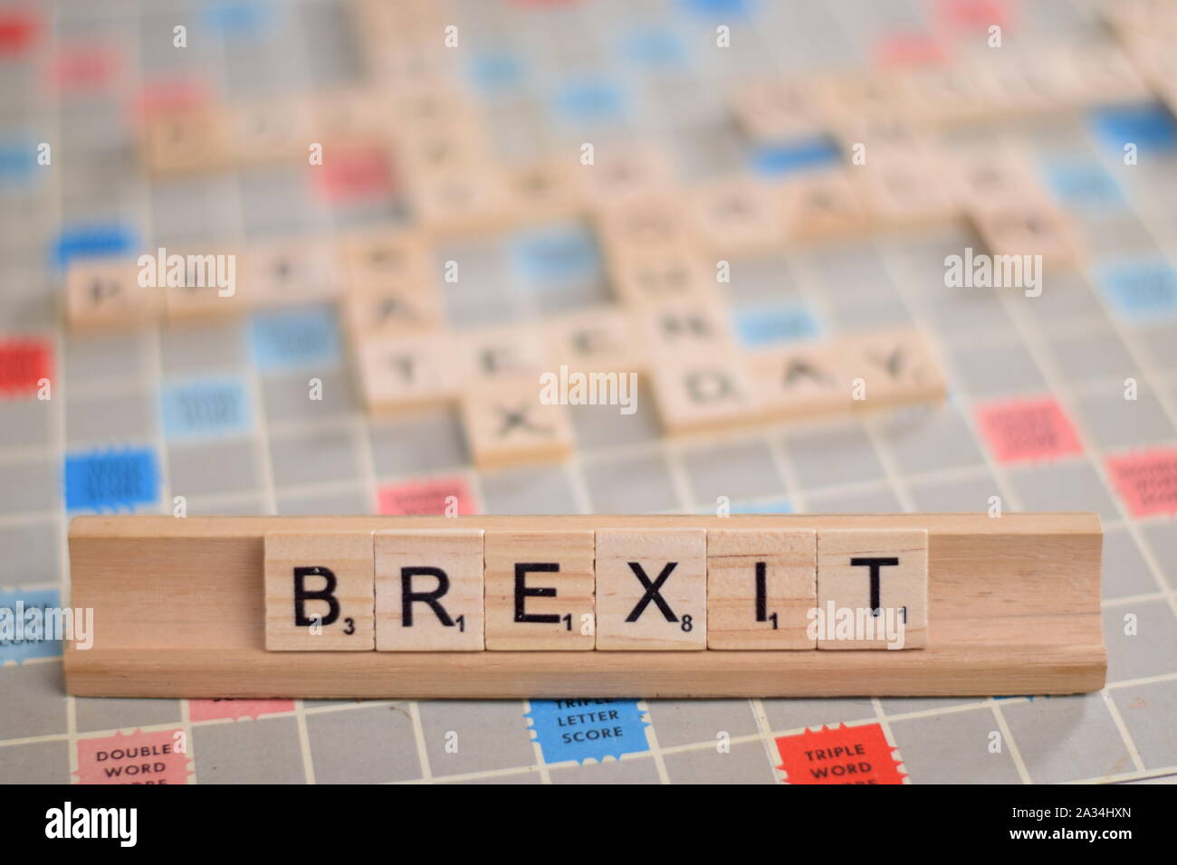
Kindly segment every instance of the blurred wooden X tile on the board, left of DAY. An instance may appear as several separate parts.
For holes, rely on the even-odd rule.
[[[565,459],[573,448],[563,405],[540,401],[538,378],[484,382],[461,397],[471,458],[479,468]]]

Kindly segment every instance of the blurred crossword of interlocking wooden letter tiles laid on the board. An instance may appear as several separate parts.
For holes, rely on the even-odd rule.
[[[1132,104],[1150,95],[1145,78],[1163,80],[1159,72],[1142,76],[1115,44],[1044,46],[931,72],[766,80],[732,97],[749,140],[830,134],[846,166],[782,182],[733,175],[684,186],[665,153],[627,141],[586,141],[541,164],[501,165],[478,105],[463,92],[450,41],[460,35],[445,5],[365,1],[354,14],[372,84],[157,112],[144,128],[144,159],[155,172],[193,172],[251,160],[314,164],[375,144],[399,167],[412,221],[340,241],[235,252],[244,264],[232,297],[186,279],[191,265],[179,285],[161,291],[140,286],[132,261],[81,261],[67,279],[67,317],[85,327],[338,301],[368,410],[460,405],[484,468],[574,451],[565,407],[537,399],[539,377],[557,371],[605,381],[641,374],[672,434],[943,399],[939,361],[913,328],[739,346],[720,295],[729,259],[966,220],[995,255],[1032,252],[1052,267],[1076,264],[1075,226],[1018,154],[953,157],[940,133]],[[1138,21],[1121,25],[1133,54],[1146,52]],[[463,274],[460,262],[438,260],[443,239],[571,219],[594,227],[614,304],[543,321],[447,326],[440,281]]]

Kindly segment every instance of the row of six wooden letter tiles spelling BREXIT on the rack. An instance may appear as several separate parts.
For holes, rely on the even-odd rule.
[[[271,651],[926,645],[926,530],[288,532],[265,559]]]

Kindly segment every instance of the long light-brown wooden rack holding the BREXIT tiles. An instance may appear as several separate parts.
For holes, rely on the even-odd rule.
[[[265,543],[284,533],[807,528],[927,533],[911,651],[266,651]],[[697,534],[690,533],[686,534]],[[1102,530],[1090,513],[78,517],[80,697],[526,698],[1063,694],[1103,686]],[[282,551],[284,557],[287,551]],[[338,554],[343,554],[339,552]],[[348,552],[354,560],[361,553]],[[726,554],[726,553],[725,553]],[[487,648],[493,648],[488,646]]]

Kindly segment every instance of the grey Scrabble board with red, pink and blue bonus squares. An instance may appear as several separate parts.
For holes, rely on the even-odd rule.
[[[60,643],[4,639],[0,781],[1177,776],[1177,125],[1153,39],[1173,32],[1172,5],[453,0],[406,4],[420,14],[397,20],[378,8],[0,4],[0,607],[66,603],[68,520],[94,512],[1092,511],[1104,526],[1108,684],[1075,697],[984,699],[97,699],[65,696]],[[446,54],[411,51],[447,38],[457,41]],[[1100,89],[1106,79],[1078,59],[1108,46],[1136,72]],[[1077,88],[1065,106],[1036,102],[1006,81],[1002,111],[957,89],[945,100],[929,84],[993,52],[1038,72],[1077,64],[1066,68],[1084,74],[1064,74]],[[446,58],[441,68],[430,61],[437,56]],[[923,82],[899,101],[935,114],[935,137],[887,141],[886,129],[859,129],[857,113],[782,129],[782,117],[757,101],[779,107],[784,98],[765,82],[827,76],[829,91],[852,102],[856,82],[892,73]],[[633,312],[639,277],[652,267],[629,245],[632,228],[570,218],[561,200],[446,209],[450,187],[423,186],[433,175],[413,162],[435,144],[414,138],[428,118],[401,122],[414,82],[439,75],[452,76],[478,115],[458,125],[468,135],[441,137],[440,158],[452,149],[460,166],[501,166],[496,177],[513,178],[514,193],[537,188],[525,168],[578,159],[584,142],[601,160],[653,154],[644,164],[667,171],[659,182],[681,195],[672,213],[696,231],[686,246],[696,249],[700,234],[722,240],[703,261],[707,278],[720,254],[729,265],[706,310],[727,341],[664,353],[645,370],[632,413],[558,406],[566,411],[552,422],[566,428],[546,451],[480,447],[485,404],[474,398],[370,386],[358,331],[373,318],[355,300],[367,295],[338,297],[331,280],[308,279],[298,282],[307,295],[275,297],[257,277],[259,262],[297,258],[315,273],[328,247],[435,219],[428,258],[438,273],[457,262],[460,278],[437,280],[417,311],[430,330],[413,332],[426,334],[417,338],[423,352],[440,339],[466,346],[483,373],[505,348],[536,368],[527,350],[543,341],[537,328],[556,338],[592,317],[613,327],[619,312]],[[355,93],[377,101],[355,107],[347,95]],[[855,98],[870,114],[870,94]],[[887,106],[884,119],[893,99]],[[322,142],[321,165],[307,165],[301,146],[292,155],[265,138],[266,126],[250,127],[258,138],[244,151],[217,144],[242,140],[246,131],[232,124],[260,109],[285,120],[318,111],[326,124],[318,128],[343,132]],[[152,138],[161,117],[172,138]],[[380,122],[367,128],[368,120]],[[936,152],[920,152],[929,161],[919,165],[1000,153],[1024,177],[1012,193],[999,184],[970,192],[964,220],[945,218],[955,206],[946,200],[917,206],[867,180],[856,195],[883,229],[838,212],[790,222],[779,248],[762,242],[763,224],[733,224],[723,207],[707,222],[714,212],[696,206],[729,195],[744,206],[769,191],[793,191],[773,201],[796,204],[813,178],[852,171],[847,157],[864,134],[866,167],[879,161],[878,141],[884,165],[889,146],[910,154],[926,145]],[[193,135],[201,159],[178,146]],[[201,138],[214,135],[222,138]],[[387,135],[399,149],[372,145]],[[916,184],[910,165],[900,179]],[[445,174],[471,177],[485,175]],[[838,182],[820,189],[842,200]],[[520,208],[525,221],[501,220]],[[1026,226],[1045,232],[1032,247],[1046,262],[1040,293],[947,287],[950,257],[1020,252]],[[141,320],[115,315],[118,326],[68,302],[109,297],[87,286],[125,279],[128,259],[158,248],[240,251],[241,285],[267,291],[228,305],[140,304],[129,308]],[[698,265],[676,261],[684,272]],[[71,294],[79,272],[81,291]],[[640,327],[623,318],[620,332]],[[493,345],[470,347],[496,328]],[[809,417],[749,418],[743,407],[700,417],[666,395],[680,380],[667,370],[701,360],[729,370],[794,348],[865,357],[864,346],[896,333],[919,357],[926,351],[932,373],[920,387],[887,393],[886,411],[831,411],[814,398]],[[634,362],[617,360],[621,370]],[[499,386],[484,384],[479,392]]]

